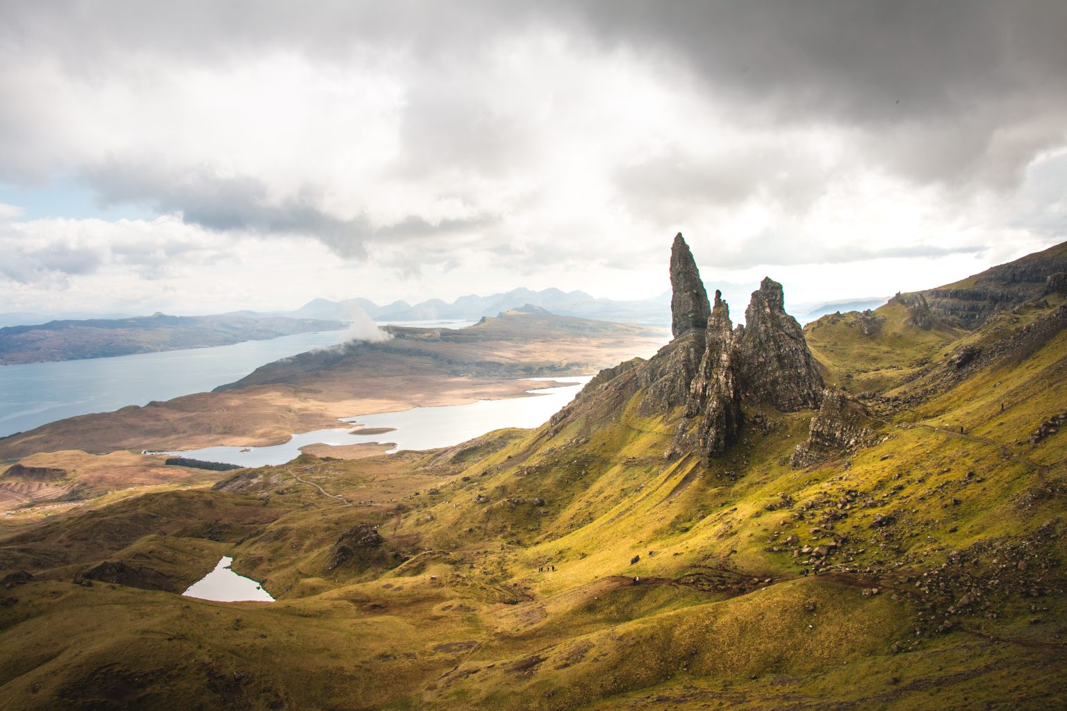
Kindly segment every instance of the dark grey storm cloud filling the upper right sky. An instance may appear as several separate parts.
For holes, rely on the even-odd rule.
[[[856,131],[867,165],[918,183],[1014,188],[1034,156],[1067,138],[1067,3],[622,0],[585,9],[585,27],[602,42],[678,58],[745,120]]]

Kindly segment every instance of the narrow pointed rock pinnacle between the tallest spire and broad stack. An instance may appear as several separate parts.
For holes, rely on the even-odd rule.
[[[715,305],[707,319],[704,355],[689,387],[686,418],[675,433],[674,450],[695,446],[703,456],[720,456],[737,440],[740,431],[740,390],[733,365],[733,325],[730,307],[716,290]]]

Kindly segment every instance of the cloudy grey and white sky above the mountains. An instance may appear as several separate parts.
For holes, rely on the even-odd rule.
[[[1060,0],[0,17],[0,312],[643,298],[678,231],[708,286],[813,303],[1067,240]]]

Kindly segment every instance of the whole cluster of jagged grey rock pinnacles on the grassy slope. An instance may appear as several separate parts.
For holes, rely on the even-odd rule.
[[[748,327],[734,328],[720,292],[715,292],[714,308],[708,305],[681,235],[671,252],[671,284],[674,339],[647,361],[634,359],[602,371],[552,418],[551,433],[574,418],[592,427],[618,417],[643,390],[638,415],[684,408],[668,455],[696,450],[716,457],[740,436],[743,401],[783,411],[818,407],[823,377],[800,324],[785,312],[780,284],[765,278],[746,311]]]

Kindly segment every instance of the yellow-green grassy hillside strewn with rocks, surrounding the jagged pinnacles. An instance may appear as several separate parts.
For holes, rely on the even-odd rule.
[[[879,328],[809,324],[873,427],[812,467],[790,464],[811,410],[746,404],[723,457],[666,457],[681,408],[647,414],[641,387],[620,405],[605,376],[536,431],[305,455],[0,529],[3,572],[33,576],[0,591],[0,692],[12,709],[1067,707],[1065,302],[974,332],[909,325],[899,303]],[[223,554],[277,602],[164,589]],[[133,572],[85,579],[106,561]]]

